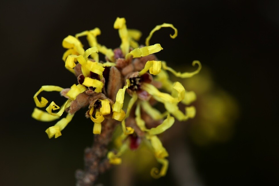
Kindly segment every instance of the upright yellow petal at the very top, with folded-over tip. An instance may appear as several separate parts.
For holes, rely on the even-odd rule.
[[[125,18],[117,17],[114,22],[113,28],[118,29],[119,37],[121,39],[120,48],[123,55],[126,55],[129,52],[130,45],[129,45],[128,30],[127,30]]]

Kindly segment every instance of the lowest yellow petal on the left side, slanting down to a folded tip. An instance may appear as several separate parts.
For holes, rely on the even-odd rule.
[[[58,121],[54,126],[49,127],[45,132],[47,133],[49,138],[55,136],[55,138],[61,136],[61,131],[68,125],[68,123],[72,120],[74,114],[68,113],[66,118],[62,118]]]

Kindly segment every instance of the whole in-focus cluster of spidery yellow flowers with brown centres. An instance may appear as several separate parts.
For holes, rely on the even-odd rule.
[[[37,107],[43,108],[48,100],[41,97],[42,91],[58,91],[66,98],[62,106],[51,102],[45,111],[35,108],[32,117],[40,121],[53,121],[64,112],[65,118],[59,120],[45,132],[49,138],[61,136],[61,131],[72,120],[75,112],[87,107],[85,116],[93,121],[93,134],[101,134],[106,120],[121,122],[122,132],[116,138],[118,151],[110,151],[107,157],[111,164],[121,163],[121,154],[125,149],[137,149],[142,141],[149,144],[157,161],[162,168],[153,168],[151,175],[155,178],[164,176],[168,168],[167,150],[163,147],[158,135],[169,129],[175,122],[185,121],[195,116],[194,106],[189,106],[196,95],[186,91],[181,83],[171,82],[167,71],[179,78],[190,78],[201,69],[199,61],[194,72],[176,72],[164,61],[154,55],[163,48],[160,44],[150,45],[149,41],[157,30],[162,27],[173,28],[177,36],[177,29],[172,24],[164,23],[156,26],[146,38],[145,45],[139,45],[141,32],[127,29],[125,18],[117,18],[114,28],[119,31],[121,45],[114,50],[100,45],[97,36],[101,34],[99,28],[87,30],[66,37],[62,46],[66,48],[62,59],[67,70],[77,77],[77,84],[68,89],[58,86],[42,86],[34,95]],[[91,48],[84,50],[80,37],[87,37]],[[105,62],[99,59],[99,53],[105,56]],[[161,91],[160,91],[160,90]],[[128,100],[128,101],[127,101]],[[124,104],[127,102],[127,106]],[[185,112],[179,110],[178,103],[186,105]],[[156,106],[164,106],[161,113]],[[161,108],[160,108],[161,109]],[[53,112],[59,110],[58,112]],[[162,110],[162,109],[161,109]]]

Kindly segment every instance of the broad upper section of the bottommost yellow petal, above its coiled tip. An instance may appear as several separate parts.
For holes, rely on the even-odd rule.
[[[147,136],[147,138],[151,142],[151,145],[154,149],[154,155],[156,158],[162,159],[169,156],[167,150],[165,149],[165,147],[163,147],[162,142],[156,135]]]

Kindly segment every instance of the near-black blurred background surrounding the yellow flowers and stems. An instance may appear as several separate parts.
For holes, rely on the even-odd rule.
[[[154,26],[172,23],[176,39],[167,28],[152,37],[151,43],[164,48],[158,57],[173,68],[200,60],[240,103],[229,141],[206,147],[189,142],[204,185],[279,184],[279,1],[54,2],[1,1],[0,185],[75,184],[83,149],[92,143],[91,121],[78,112],[61,137],[48,139],[44,131],[54,123],[31,118],[33,95],[42,85],[76,83],[61,59],[69,34],[99,27],[98,42],[118,47],[116,17],[142,31],[141,43]],[[110,172],[101,179],[106,176]],[[170,171],[150,185],[163,183],[175,185]]]

